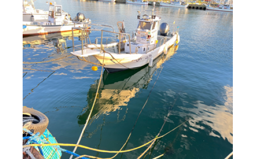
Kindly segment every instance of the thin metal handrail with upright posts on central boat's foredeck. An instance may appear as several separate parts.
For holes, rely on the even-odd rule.
[[[90,24],[91,25],[91,24]],[[104,25],[101,25],[101,26],[104,26]],[[113,27],[111,27],[111,28],[113,28]],[[82,55],[83,55],[83,31],[101,31],[101,43],[100,43],[100,53],[102,52],[102,47],[103,47],[103,45],[102,45],[102,38],[103,38],[103,32],[110,32],[110,33],[118,33],[119,34],[119,36],[120,36],[120,34],[124,34],[124,35],[128,35],[128,37],[129,37],[129,52],[130,52],[130,35],[128,34],[128,33],[122,33],[122,32],[111,32],[111,31],[105,31],[105,30],[97,30],[97,29],[86,29],[86,27],[72,27],[72,43],[73,43],[73,52],[75,52],[75,48],[74,48],[74,29],[75,30],[81,30],[82,31]],[[113,30],[114,30],[114,28],[113,28]],[[120,40],[119,40],[119,45],[120,45]],[[85,45],[87,45],[87,43],[85,44]],[[119,48],[120,48],[120,46],[119,46]],[[120,49],[119,49],[119,54],[120,54]],[[130,54],[131,54],[131,52],[130,52]]]

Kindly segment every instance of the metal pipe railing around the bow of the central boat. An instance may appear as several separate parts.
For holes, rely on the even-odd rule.
[[[91,24],[86,24],[86,25],[91,25]],[[83,49],[84,49],[84,46],[88,46],[88,44],[90,43],[90,44],[92,44],[91,43],[91,40],[90,40],[90,37],[89,37],[89,34],[87,33],[87,32],[89,32],[89,31],[99,31],[99,32],[101,32],[101,36],[100,36],[100,53],[102,53],[103,52],[103,50],[104,50],[104,45],[102,44],[102,39],[103,39],[103,32],[109,32],[109,33],[115,33],[115,34],[118,34],[119,36],[118,36],[118,38],[119,38],[119,41],[118,41],[118,45],[119,45],[119,54],[120,54],[120,52],[121,52],[121,46],[122,46],[122,44],[121,44],[121,42],[123,43],[124,41],[123,40],[121,40],[121,35],[124,35],[125,37],[128,35],[128,39],[129,39],[129,51],[130,51],[130,35],[128,34],[128,33],[122,33],[122,32],[111,32],[111,31],[105,31],[105,30],[99,30],[99,29],[87,29],[87,26],[85,25],[85,27],[72,27],[72,44],[73,44],[73,52],[75,52],[75,48],[79,48],[79,47],[77,47],[77,46],[81,46],[81,48],[79,48],[79,49],[81,49],[82,50],[82,55],[84,55],[84,51],[83,51]],[[99,25],[99,26],[104,26],[104,25]],[[113,27],[111,27],[111,28],[113,28]],[[82,44],[81,45],[74,45],[74,30],[80,30],[81,31],[81,34],[82,34],[82,36],[81,36],[81,42],[82,42]],[[114,30],[114,28],[113,28],[113,30]],[[99,38],[99,37],[98,37]],[[85,43],[83,42],[85,40]],[[88,47],[87,47],[88,48]],[[96,47],[97,48],[97,47]],[[91,48],[91,49],[93,49],[93,48]],[[131,52],[130,52],[130,54],[131,54]]]

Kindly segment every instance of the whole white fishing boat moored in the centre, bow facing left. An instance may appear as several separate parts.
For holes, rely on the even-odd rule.
[[[180,40],[179,33],[169,32],[169,26],[167,23],[160,25],[161,18],[155,15],[155,2],[153,10],[145,10],[150,12],[150,16],[144,14],[140,17],[140,11],[138,11],[138,26],[135,30],[135,36],[126,33],[125,23],[118,22],[119,32],[105,31],[105,30],[92,30],[101,32],[100,44],[97,44],[97,38],[95,43],[91,43],[89,35],[85,37],[85,42],[82,41],[81,45],[74,45],[73,39],[73,51],[72,55],[82,57],[84,61],[92,63],[85,59],[88,56],[94,56],[100,64],[103,65],[107,72],[117,72],[126,69],[135,69],[143,65],[148,64],[152,66],[153,60],[159,57],[162,53],[167,54],[167,49],[175,44],[178,44]],[[143,11],[144,12],[144,11]],[[91,24],[90,24],[91,25]],[[113,27],[112,27],[113,28]],[[159,31],[160,28],[160,31]],[[73,29],[79,29],[81,31],[88,31],[85,27],[74,27]],[[118,34],[118,39],[113,43],[103,44],[103,33]],[[82,36],[83,37],[83,36]],[[113,36],[112,38],[115,38]],[[127,38],[128,37],[128,38]],[[78,50],[75,50],[81,46]],[[94,63],[95,64],[95,63]]]

